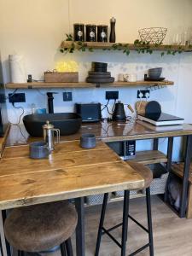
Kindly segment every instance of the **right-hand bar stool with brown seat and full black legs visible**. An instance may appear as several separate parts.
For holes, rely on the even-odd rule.
[[[120,248],[121,248],[121,256],[125,256],[125,247],[126,247],[126,241],[127,241],[127,230],[128,230],[128,218],[131,218],[132,221],[134,221],[137,225],[139,225],[144,231],[148,233],[148,243],[145,244],[143,247],[138,248],[137,251],[129,254],[129,256],[136,255],[137,253],[140,253],[145,248],[149,247],[150,256],[154,256],[154,242],[153,242],[153,230],[152,230],[152,218],[151,218],[151,202],[150,202],[150,183],[153,180],[153,174],[151,170],[143,166],[141,164],[137,164],[133,161],[129,161],[129,165],[137,171],[144,179],[144,187],[140,189],[146,190],[146,204],[147,204],[147,215],[148,215],[148,229],[146,229],[142,224],[140,224],[135,218],[132,218],[129,214],[129,200],[130,200],[130,191],[125,190],[124,192],[124,206],[123,206],[123,222],[120,224],[116,224],[110,229],[104,228],[104,218],[105,218],[105,212],[106,207],[108,204],[108,193],[104,194],[104,199],[102,203],[102,213],[100,218],[100,224],[99,224],[99,230],[96,240],[96,253],[95,256],[99,255],[99,249],[100,244],[102,240],[102,235],[106,234],[108,235]],[[121,243],[117,241],[111,234],[110,231],[115,230],[122,226],[122,235],[121,235]]]

